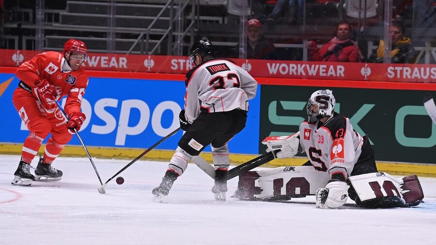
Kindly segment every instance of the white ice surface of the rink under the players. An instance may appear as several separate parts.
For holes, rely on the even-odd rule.
[[[93,159],[103,183],[129,160]],[[287,203],[215,201],[213,180],[194,164],[162,203],[152,201],[165,162],[138,161],[106,194],[88,158],[59,157],[58,182],[13,186],[17,155],[0,155],[0,244],[44,245],[434,245],[436,179],[420,177],[425,203],[415,208],[316,209],[314,197]],[[36,158],[33,162],[36,166]]]

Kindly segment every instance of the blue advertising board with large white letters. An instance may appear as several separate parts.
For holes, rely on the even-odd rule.
[[[23,143],[29,134],[12,104],[18,82],[15,74],[0,74],[0,142]],[[87,146],[146,149],[179,127],[184,95],[182,81],[90,77],[82,101],[87,119],[80,136]],[[260,96],[249,103],[247,126],[229,143],[232,153],[258,153]],[[182,131],[156,149],[174,150],[181,136]],[[73,137],[69,144],[80,142]]]

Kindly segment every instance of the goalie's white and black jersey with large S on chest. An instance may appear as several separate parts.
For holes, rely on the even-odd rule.
[[[322,125],[321,125],[322,124]],[[358,161],[363,138],[353,129],[350,120],[334,112],[325,122],[304,121],[300,126],[300,145],[318,171],[350,176]]]

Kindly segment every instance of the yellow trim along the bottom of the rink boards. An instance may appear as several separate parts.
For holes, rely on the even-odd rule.
[[[0,143],[0,154],[20,154],[23,148],[22,144]],[[115,158],[115,159],[135,159],[145,149],[138,148],[111,148],[111,147],[87,147],[92,157],[97,158]],[[44,145],[40,148],[39,154],[44,154]],[[170,150],[153,150],[143,156],[142,160],[170,161],[174,151]],[[212,163],[211,153],[200,154],[206,161]],[[86,157],[82,146],[65,146],[61,156],[79,156]],[[253,154],[230,154],[230,162],[239,165],[257,157]],[[295,157],[286,159],[274,159],[263,165],[264,167],[284,167],[284,166],[301,166],[307,162],[305,157]],[[436,164],[418,164],[418,163],[394,163],[394,162],[376,162],[377,169],[381,172],[396,175],[416,174],[418,176],[436,177]]]

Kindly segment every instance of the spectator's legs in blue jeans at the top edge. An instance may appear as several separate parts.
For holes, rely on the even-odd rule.
[[[301,24],[303,23],[303,15],[304,15],[304,0],[278,0],[276,5],[274,5],[274,9],[271,14],[268,16],[266,23],[270,26],[276,24],[279,17],[283,15],[286,11],[285,9],[289,7],[289,14],[293,12],[293,19],[289,22],[289,24]],[[296,9],[298,7],[298,10]]]

